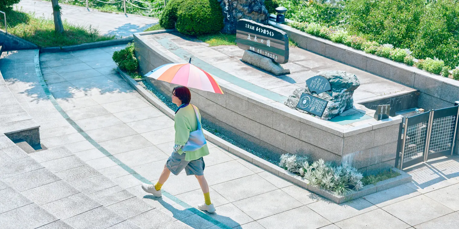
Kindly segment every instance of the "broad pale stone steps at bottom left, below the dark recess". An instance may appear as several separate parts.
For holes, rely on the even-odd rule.
[[[0,178],[2,229],[150,228],[158,211],[66,147],[25,153],[11,142],[0,149]]]

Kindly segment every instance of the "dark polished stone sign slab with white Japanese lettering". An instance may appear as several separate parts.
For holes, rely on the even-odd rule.
[[[288,61],[287,34],[272,26],[241,19],[236,27],[237,47],[269,57],[279,64]]]

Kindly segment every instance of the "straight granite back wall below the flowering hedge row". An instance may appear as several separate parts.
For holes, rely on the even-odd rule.
[[[288,19],[285,21],[291,22]],[[418,89],[421,93],[436,98],[437,103],[449,103],[448,105],[453,106],[454,101],[459,98],[459,81],[457,80],[432,74],[383,57],[367,54],[364,51],[353,49],[347,45],[334,43],[285,24],[277,23],[275,20],[269,20],[269,25],[285,31],[289,38],[295,41],[298,47],[302,49]]]

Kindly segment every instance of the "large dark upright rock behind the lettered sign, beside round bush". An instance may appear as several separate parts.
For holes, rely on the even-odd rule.
[[[239,19],[267,24],[269,13],[264,0],[218,0],[223,11],[223,33],[236,33]]]

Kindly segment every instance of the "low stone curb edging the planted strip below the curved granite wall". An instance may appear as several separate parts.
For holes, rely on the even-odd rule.
[[[119,74],[123,76],[124,80],[128,82],[132,87],[135,88],[137,92],[139,92],[148,102],[150,102],[153,106],[155,106],[157,109],[161,110],[164,114],[166,114],[168,117],[174,119],[175,113],[172,109],[170,109],[168,106],[163,104],[160,100],[157,98],[154,98],[149,92],[145,90],[142,86],[139,85],[138,82],[136,82],[134,79],[132,79],[130,76],[128,76],[126,73],[121,71],[119,68],[117,68]],[[209,141],[212,142],[213,144],[217,145],[218,147],[222,147],[224,150],[228,151],[229,153],[232,153],[244,160],[246,160],[249,163],[252,163],[284,180],[287,180],[295,185],[298,185],[306,190],[312,191],[320,196],[324,196],[325,198],[336,202],[338,204],[344,203],[353,199],[357,199],[362,196],[366,196],[372,193],[375,193],[377,191],[382,191],[388,188],[392,188],[397,185],[401,185],[407,182],[412,181],[411,175],[396,169],[392,168],[393,171],[397,171],[401,175],[380,181],[376,183],[376,185],[365,185],[361,190],[355,191],[352,193],[347,194],[346,196],[336,196],[334,193],[314,187],[312,185],[308,184],[308,181],[302,178],[301,176],[298,176],[297,174],[293,174],[291,172],[288,172],[287,170],[280,168],[279,166],[272,164],[263,158],[259,158],[252,153],[247,152],[244,149],[241,149],[240,147],[237,147],[222,138],[213,135],[209,131],[203,130],[204,137]]]

